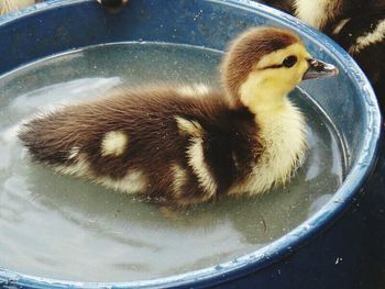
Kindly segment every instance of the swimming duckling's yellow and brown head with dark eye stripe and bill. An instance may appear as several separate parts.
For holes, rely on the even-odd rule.
[[[338,69],[312,59],[293,32],[256,27],[234,40],[221,71],[232,104],[245,105],[257,113],[278,108],[302,79],[332,76]]]

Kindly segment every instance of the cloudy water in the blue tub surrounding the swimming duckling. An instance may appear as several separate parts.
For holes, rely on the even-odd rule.
[[[31,163],[16,124],[38,110],[125,84],[217,84],[220,54],[188,46],[123,44],[88,48],[0,78],[0,267],[84,281],[138,280],[200,269],[253,252],[314,214],[342,181],[339,143],[300,91],[309,152],[286,188],[228,198],[173,216],[134,196]],[[101,274],[102,273],[102,274]]]

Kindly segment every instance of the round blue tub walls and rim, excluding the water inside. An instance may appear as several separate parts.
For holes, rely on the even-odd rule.
[[[385,230],[381,230],[385,229],[385,149],[378,151],[381,118],[375,97],[342,48],[297,20],[245,0],[132,0],[118,14],[91,0],[51,1],[0,19],[0,75],[56,53],[111,42],[172,42],[223,49],[239,32],[261,24],[290,27],[312,55],[339,66],[340,76],[324,81],[322,88],[304,85],[315,97],[320,89],[349,96],[317,99],[350,155],[346,178],[332,200],[271,245],[199,271],[134,282],[84,284],[2,268],[0,287],[385,288]]]

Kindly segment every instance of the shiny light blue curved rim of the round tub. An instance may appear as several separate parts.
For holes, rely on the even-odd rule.
[[[33,15],[40,11],[90,1],[91,0],[50,0],[0,18],[0,25],[18,20],[20,16]],[[375,164],[381,135],[381,115],[378,109],[376,109],[375,93],[361,68],[342,47],[328,36],[302,24],[294,16],[282,11],[252,2],[251,0],[205,1],[232,5],[238,9],[249,10],[252,13],[263,13],[265,18],[272,19],[282,25],[289,25],[290,30],[304,33],[307,37],[312,37],[312,41],[319,46],[329,51],[334,56],[338,56],[340,58],[339,65],[350,70],[350,78],[354,80],[355,88],[361,91],[364,97],[367,111],[367,126],[371,127],[371,131],[369,137],[365,138],[362,154],[353,165],[350,174],[348,174],[342,186],[333,194],[331,200],[317,213],[286,235],[253,253],[213,267],[169,277],[127,282],[66,281],[30,276],[0,268],[0,286],[24,286],[30,288],[151,288],[154,286],[162,286],[162,288],[172,288],[188,286],[191,281],[195,282],[196,287],[218,285],[229,279],[240,278],[248,275],[250,271],[261,270],[272,263],[278,262],[297,248],[305,246],[312,237],[317,236],[321,231],[326,230],[330,223],[341,216],[350,207],[354,196],[358,193],[358,189],[355,191],[349,191],[349,189],[360,188],[364,184],[365,178],[371,174]],[[346,68],[348,65],[349,68]],[[352,74],[352,71],[354,71],[354,74]],[[361,84],[361,86],[358,84]]]

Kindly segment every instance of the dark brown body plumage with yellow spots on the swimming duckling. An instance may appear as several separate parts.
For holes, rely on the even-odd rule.
[[[215,198],[249,169],[255,127],[219,95],[124,91],[40,115],[19,137],[56,171],[189,204]]]

